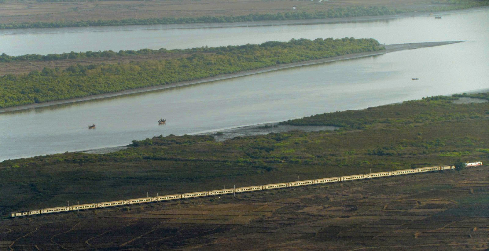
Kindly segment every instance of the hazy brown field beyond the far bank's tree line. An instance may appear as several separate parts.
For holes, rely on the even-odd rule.
[[[425,0],[192,0],[192,1],[95,1],[0,3],[0,23],[84,20],[121,20],[163,17],[240,16],[253,13],[326,10],[353,5],[377,5],[398,9],[424,10],[446,4]]]

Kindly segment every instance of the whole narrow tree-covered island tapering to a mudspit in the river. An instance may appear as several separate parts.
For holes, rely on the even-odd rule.
[[[380,45],[374,39],[292,39],[185,50],[0,55],[7,68],[42,64],[42,70],[0,77],[0,112],[99,99],[222,80],[282,68],[326,63],[451,42]],[[148,59],[147,56],[153,56]],[[95,60],[91,63],[90,60]],[[87,62],[88,61],[88,62]],[[110,63],[106,63],[110,62]],[[48,67],[50,64],[51,67]],[[54,67],[52,67],[54,65]]]

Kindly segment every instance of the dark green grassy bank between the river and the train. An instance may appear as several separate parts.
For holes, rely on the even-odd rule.
[[[479,96],[488,95],[479,94]],[[488,103],[430,97],[302,120],[328,132],[236,137],[158,136],[108,154],[63,153],[0,163],[0,210],[489,161]],[[285,122],[292,123],[292,122]],[[280,125],[279,125],[280,126]]]

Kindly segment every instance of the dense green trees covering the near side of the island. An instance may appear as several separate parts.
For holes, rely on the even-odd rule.
[[[374,39],[292,39],[209,48],[186,58],[46,68],[0,77],[0,107],[86,97],[221,74],[365,51],[382,50]]]

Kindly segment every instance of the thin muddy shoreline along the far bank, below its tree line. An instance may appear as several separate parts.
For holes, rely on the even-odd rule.
[[[185,29],[192,28],[228,28],[228,27],[254,27],[254,26],[283,26],[283,25],[304,25],[304,24],[325,24],[325,23],[344,23],[344,22],[363,22],[363,21],[381,21],[406,17],[422,17],[432,15],[449,15],[458,13],[474,12],[479,10],[489,9],[489,6],[478,6],[466,9],[457,10],[442,10],[442,11],[421,11],[412,10],[399,14],[382,15],[382,16],[358,16],[358,17],[342,17],[342,18],[325,18],[325,19],[290,19],[290,20],[263,20],[263,21],[244,21],[244,22],[196,22],[185,23],[185,25],[194,27],[183,27]],[[130,25],[90,25],[90,26],[65,26],[59,28],[76,28],[76,27],[121,27],[121,26],[151,26],[154,24],[130,24]],[[181,23],[171,24],[156,24],[156,25],[180,25]],[[162,28],[162,29],[181,29],[182,27]],[[0,30],[16,30],[16,29],[46,29],[45,27],[31,28],[0,28]],[[49,29],[49,28],[48,28]]]

